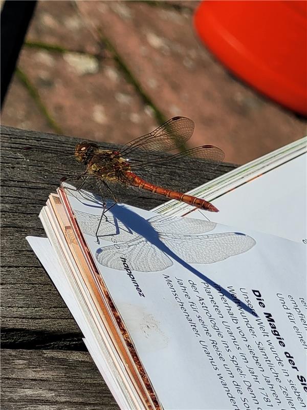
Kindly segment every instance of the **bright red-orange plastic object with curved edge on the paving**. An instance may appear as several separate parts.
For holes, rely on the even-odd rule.
[[[194,24],[231,71],[307,115],[307,2],[203,1]]]

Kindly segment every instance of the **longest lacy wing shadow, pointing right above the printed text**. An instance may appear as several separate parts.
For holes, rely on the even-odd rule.
[[[161,237],[167,247],[188,263],[214,263],[247,252],[256,241],[239,232]]]

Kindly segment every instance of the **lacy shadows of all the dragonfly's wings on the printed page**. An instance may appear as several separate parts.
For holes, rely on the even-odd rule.
[[[100,216],[80,211],[74,213],[82,233],[96,237]],[[155,232],[153,240],[131,230],[109,214],[101,222],[98,236],[106,241],[115,238],[120,253],[129,259],[129,268],[138,272],[163,271],[173,264],[172,255],[187,263],[214,263],[245,253],[256,243],[251,236],[240,232],[207,234],[216,227],[216,223],[211,221],[155,215],[145,224],[148,231]],[[113,244],[98,248],[95,256],[105,267],[124,269]]]

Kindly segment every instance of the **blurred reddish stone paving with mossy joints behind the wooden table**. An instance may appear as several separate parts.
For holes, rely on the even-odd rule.
[[[189,147],[245,163],[302,137],[306,121],[232,76],[193,30],[197,1],[40,1],[2,124],[123,144],[164,120]]]

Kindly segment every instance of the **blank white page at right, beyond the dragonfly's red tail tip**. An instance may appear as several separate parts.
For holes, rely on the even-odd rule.
[[[307,154],[300,155],[213,200],[220,212],[188,216],[307,242],[306,170]]]

